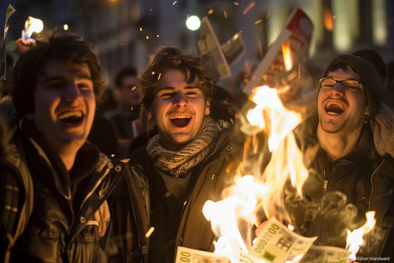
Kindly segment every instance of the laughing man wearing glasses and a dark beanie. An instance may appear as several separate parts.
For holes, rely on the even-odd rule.
[[[304,199],[288,189],[283,197],[291,224],[302,235],[318,236],[317,245],[345,248],[346,229],[361,227],[365,213],[375,211],[376,226],[357,253],[369,262],[393,256],[394,245],[394,116],[381,103],[382,90],[366,60],[342,55],[329,63],[318,107],[295,131],[301,148],[317,148]]]

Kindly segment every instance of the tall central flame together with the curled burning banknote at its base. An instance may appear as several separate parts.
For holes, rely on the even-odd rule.
[[[316,237],[299,236],[274,217],[284,218],[286,215],[281,199],[286,181],[291,181],[301,196],[302,185],[308,176],[303,154],[292,133],[301,122],[301,116],[287,110],[277,96],[277,90],[267,86],[256,88],[253,102],[256,103],[255,108],[247,113],[249,126],[243,125],[241,129],[250,136],[263,131],[267,134],[271,161],[264,173],[256,172],[255,176],[245,175],[236,179],[235,185],[225,191],[229,193],[227,198],[218,202],[206,201],[203,214],[219,237],[215,243],[215,254],[229,257],[232,263],[245,262],[240,254],[253,259],[253,262],[256,259],[257,262],[298,262]],[[258,219],[256,212],[261,208],[271,219],[252,246],[251,233],[245,238],[238,229],[238,222],[242,220],[242,224],[252,226]],[[286,219],[290,222],[290,218]],[[245,243],[244,240],[250,242]],[[287,251],[283,250],[282,243],[289,245]],[[272,258],[277,260],[272,261]]]

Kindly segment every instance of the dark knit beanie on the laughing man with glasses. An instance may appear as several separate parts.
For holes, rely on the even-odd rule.
[[[338,63],[348,64],[357,75],[361,78],[361,84],[365,88],[368,98],[370,117],[374,117],[381,106],[381,95],[383,92],[383,83],[374,66],[363,58],[353,55],[340,55],[334,58],[325,68],[322,78],[327,76],[330,69]],[[320,92],[320,89],[319,91]]]

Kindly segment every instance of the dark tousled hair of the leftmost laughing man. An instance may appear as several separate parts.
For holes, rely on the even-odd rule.
[[[37,39],[36,45],[22,54],[15,64],[11,95],[18,117],[22,118],[34,112],[34,90],[39,77],[45,75],[45,65],[49,61],[87,64],[93,80],[96,102],[100,103],[104,82],[92,45],[71,34],[57,36],[55,33],[41,36],[41,39],[45,37],[46,40]]]

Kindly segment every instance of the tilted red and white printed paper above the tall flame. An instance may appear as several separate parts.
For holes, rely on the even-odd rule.
[[[301,10],[295,9],[290,15],[286,26],[277,40],[269,47],[254,76],[243,88],[246,94],[251,94],[253,88],[264,83],[275,87],[275,82],[286,71],[290,71],[293,65],[300,65],[303,59],[308,57],[310,39],[313,24],[309,17]],[[282,45],[289,48],[282,50]],[[286,54],[284,53],[286,52]],[[292,63],[286,64],[286,58],[292,59]]]

